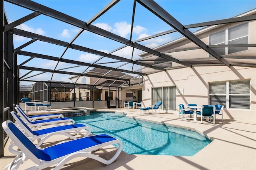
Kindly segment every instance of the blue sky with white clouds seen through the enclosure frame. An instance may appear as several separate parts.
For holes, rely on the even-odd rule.
[[[35,0],[34,2],[52,8],[59,12],[65,13],[84,22],[88,22],[94,15],[100,12],[100,10],[107,6],[111,1]],[[126,39],[130,39],[133,3],[133,0],[121,0],[114,7],[108,10],[108,12],[106,12],[103,16],[95,20],[92,25],[102,28],[108,32],[117,34],[118,36],[122,36]],[[164,8],[164,10],[169,12],[169,14],[171,14],[183,25],[232,18],[234,16],[240,15],[244,12],[256,8],[256,0],[156,0],[156,3],[158,3],[162,8]],[[16,6],[14,4],[10,4],[9,2],[4,2],[4,9],[9,22],[13,22],[32,13],[32,11],[30,10]],[[60,22],[44,15],[39,15],[36,18],[33,18],[32,20],[21,24],[20,26],[17,26],[16,28],[51,37],[57,40],[62,40],[64,42],[70,42],[80,30],[80,28],[66,24],[64,22]],[[160,20],[157,16],[152,14],[140,4],[136,3],[132,41],[172,29],[173,28],[171,26]],[[193,28],[190,29],[190,31],[195,32],[199,29],[200,28]],[[171,42],[179,37],[181,37],[181,35],[176,32],[139,43],[146,47],[154,48],[164,43]],[[17,48],[30,40],[31,39],[14,35],[14,48]],[[117,49],[118,47],[121,47],[123,45],[122,43],[114,42],[113,40],[98,36],[87,31],[84,31],[74,41],[74,44],[88,47],[91,49],[96,49],[98,51],[103,51],[106,53]],[[60,57],[64,52],[65,47],[36,41],[21,50],[50,55],[53,57]],[[143,52],[140,50],[135,50],[134,55],[132,56],[131,51],[132,47],[125,47],[112,54],[128,59],[138,59],[138,54]],[[86,53],[83,51],[68,49],[62,58],[82,61],[86,63],[94,63],[94,61],[96,61],[100,57],[101,56]],[[23,63],[29,58],[30,57],[18,55],[18,64]],[[115,61],[117,60],[104,57],[103,59],[100,59],[97,63],[109,67],[118,67],[124,64],[124,62],[116,63]],[[106,62],[115,63],[104,64]],[[48,61],[45,59],[34,58],[26,63],[25,66],[54,69],[56,67],[56,64],[56,61]],[[86,69],[87,71],[92,69],[85,66],[74,66],[77,65],[69,63],[59,63],[56,69],[63,69],[63,71],[77,73],[82,73]],[[140,69],[141,66],[126,64],[118,68],[136,71],[137,69]],[[26,73],[28,73],[28,70],[20,70],[20,77]],[[33,71],[26,77],[30,77],[28,78],[29,80],[44,81],[48,81],[52,77],[52,81],[69,82],[69,78],[72,76],[57,73],[54,73],[53,76],[52,73],[37,75],[38,73],[40,72]],[[33,75],[37,76],[31,77]],[[31,82],[22,81],[21,84],[28,85],[31,84]]]

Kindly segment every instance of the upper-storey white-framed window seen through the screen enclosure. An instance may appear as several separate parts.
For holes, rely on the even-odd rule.
[[[209,45],[248,44],[248,42],[249,22],[244,22],[243,24],[209,35]],[[213,49],[219,55],[228,55],[231,53],[246,51],[249,47],[217,47]]]

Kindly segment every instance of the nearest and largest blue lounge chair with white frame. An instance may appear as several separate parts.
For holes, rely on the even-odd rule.
[[[92,158],[108,165],[114,162],[122,151],[122,142],[107,134],[70,140],[68,142],[40,149],[36,148],[36,146],[11,121],[2,123],[2,127],[10,139],[21,150],[20,154],[18,154],[4,169],[19,169],[20,164],[27,163],[26,160],[30,159],[36,164],[36,166],[32,165],[33,167],[30,167],[30,169],[44,169],[57,164],[54,169],[58,170],[68,161],[78,157]],[[100,156],[93,154],[93,152],[90,152],[112,144],[119,144],[119,147],[110,160],[103,159]]]

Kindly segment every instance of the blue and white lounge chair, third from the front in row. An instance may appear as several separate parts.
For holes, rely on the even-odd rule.
[[[68,117],[64,118],[56,118],[56,119],[45,119],[40,121],[30,121],[28,118],[24,115],[22,109],[15,107],[16,111],[19,113],[21,119],[28,125],[30,128],[34,128],[34,130],[37,130],[39,127],[42,127],[44,125],[54,125],[54,126],[60,126],[60,124],[67,125],[68,123],[74,124],[75,121],[73,119],[70,119]]]

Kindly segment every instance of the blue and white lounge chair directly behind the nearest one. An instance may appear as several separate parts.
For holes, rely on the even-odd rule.
[[[22,119],[15,113],[14,111],[11,112],[12,117],[16,120],[15,124],[17,127],[22,129],[22,132],[30,139],[31,142],[34,140],[38,140],[38,144],[36,147],[40,147],[41,144],[48,138],[54,136],[54,135],[64,135],[68,138],[76,139],[74,135],[80,134],[84,137],[88,136],[91,132],[91,128],[87,127],[83,124],[73,124],[73,125],[63,125],[58,127],[50,127],[45,128],[41,130],[31,130]],[[83,135],[80,133],[82,129],[86,129],[87,133]],[[9,151],[13,154],[18,155],[20,151],[14,150],[13,147],[15,144],[11,141],[11,144],[9,146]]]

